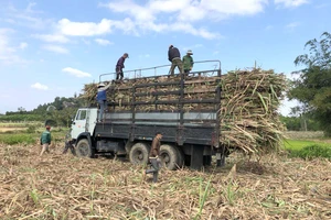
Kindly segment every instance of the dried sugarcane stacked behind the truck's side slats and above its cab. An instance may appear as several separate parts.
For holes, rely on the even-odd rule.
[[[215,97],[215,89],[218,86],[220,77],[189,77],[184,82],[184,96],[183,100],[192,100],[192,99],[207,99]],[[156,82],[160,82],[158,86],[153,86]],[[162,85],[162,82],[174,82],[173,85]],[[139,87],[140,85],[140,87]],[[147,86],[141,86],[147,85]],[[135,91],[132,88],[135,88]],[[115,84],[113,82],[110,89],[107,90],[107,100],[114,101],[117,103],[117,107],[114,111],[124,111],[131,109],[131,102],[135,101],[141,105],[136,106],[137,111],[151,111],[151,110],[177,110],[179,108],[177,102],[172,103],[158,103],[158,101],[170,101],[177,100],[179,101],[179,94],[167,94],[167,92],[175,92],[180,90],[180,76],[175,75],[173,77],[152,77],[152,78],[137,78],[126,80],[125,84]],[[88,106],[96,106],[96,92],[97,92],[97,84],[88,84],[85,85],[83,89],[83,95],[81,98],[85,100]],[[154,95],[158,92],[159,95]],[[146,103],[146,105],[143,105]],[[149,105],[150,103],[150,105]],[[184,105],[183,109],[185,111],[191,111],[194,109],[214,109],[214,107],[210,107],[209,105],[195,105],[188,103]]]

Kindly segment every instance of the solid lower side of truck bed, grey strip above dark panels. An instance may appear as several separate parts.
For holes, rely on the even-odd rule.
[[[216,112],[121,112],[106,113],[96,124],[96,134],[108,138],[151,140],[157,131],[163,141],[183,144],[216,145]],[[215,143],[214,143],[215,142]]]

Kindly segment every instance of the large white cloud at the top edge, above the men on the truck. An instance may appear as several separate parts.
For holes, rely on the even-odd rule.
[[[145,4],[137,4],[132,0],[116,0],[99,4],[113,12],[126,13],[129,26],[127,32],[184,32],[204,38],[217,38],[218,33],[210,32],[204,28],[193,26],[194,21],[209,19],[217,21],[231,15],[250,15],[264,10],[268,0],[149,0]],[[163,19],[160,22],[161,18]],[[132,20],[131,20],[132,19]],[[111,22],[110,22],[111,23]],[[114,28],[122,29],[113,22]],[[138,30],[138,31],[137,31]]]

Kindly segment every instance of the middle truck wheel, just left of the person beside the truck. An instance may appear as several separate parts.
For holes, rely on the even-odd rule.
[[[130,151],[130,162],[136,165],[147,164],[149,156],[149,145],[147,143],[136,143]]]

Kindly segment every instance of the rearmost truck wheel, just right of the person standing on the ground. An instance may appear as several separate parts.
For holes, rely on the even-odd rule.
[[[169,144],[160,146],[160,158],[166,168],[174,170],[183,165],[183,156],[178,147]]]

